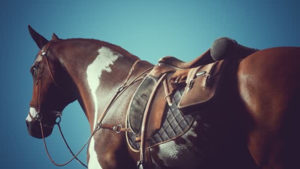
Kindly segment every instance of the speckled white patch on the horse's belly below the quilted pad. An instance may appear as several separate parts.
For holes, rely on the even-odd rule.
[[[159,145],[159,152],[157,155],[158,158],[163,161],[164,165],[169,166],[166,163],[166,161],[164,161],[165,159],[173,159],[177,161],[180,154],[195,148],[188,137],[197,137],[197,133],[194,132],[194,127],[196,126],[197,122],[195,121],[192,127],[188,130],[188,132],[181,136],[181,138],[187,141],[186,144],[176,144],[175,141],[172,140]]]

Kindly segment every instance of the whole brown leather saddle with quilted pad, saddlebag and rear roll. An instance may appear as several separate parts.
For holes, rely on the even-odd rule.
[[[159,59],[136,90],[128,107],[126,127],[130,127],[132,132],[126,132],[126,138],[130,147],[138,151],[145,146],[142,145],[143,140],[150,147],[188,131],[193,124],[193,115],[209,107],[215,100],[227,63],[255,51],[257,49],[221,38],[213,43],[212,48],[190,62],[172,56]],[[177,114],[174,115],[172,110]],[[166,132],[164,127],[171,126],[167,120],[169,114],[180,117],[186,126],[177,122],[181,127],[178,130],[172,128],[170,133],[173,135],[163,137],[160,132]]]

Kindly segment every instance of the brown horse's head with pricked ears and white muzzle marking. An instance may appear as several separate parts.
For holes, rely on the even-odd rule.
[[[30,26],[29,32],[40,51],[30,69],[33,77],[33,95],[26,125],[30,135],[42,138],[40,124],[44,137],[49,136],[57,118],[60,120],[63,109],[75,98],[61,87],[66,84],[60,86],[66,76],[61,63],[50,49],[52,43],[59,41],[58,37],[53,34],[52,40],[47,41]]]

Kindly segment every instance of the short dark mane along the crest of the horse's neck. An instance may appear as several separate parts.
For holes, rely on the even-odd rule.
[[[64,41],[87,41],[87,42],[91,42],[91,43],[98,43],[101,46],[111,48],[113,51],[121,53],[125,56],[133,57],[135,59],[140,59],[138,56],[133,55],[132,53],[128,52],[127,50],[125,50],[121,46],[112,44],[110,42],[105,42],[105,41],[100,41],[100,40],[95,40],[95,39],[84,39],[84,38],[71,38],[71,39],[65,39]]]

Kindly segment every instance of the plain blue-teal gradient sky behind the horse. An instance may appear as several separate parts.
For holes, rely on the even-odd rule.
[[[188,61],[224,36],[260,49],[300,46],[299,4],[296,0],[1,1],[0,168],[58,168],[47,159],[42,140],[29,136],[25,125],[32,95],[29,68],[38,52],[27,25],[47,39],[55,32],[62,39],[112,42],[152,63],[165,55]],[[77,102],[65,109],[61,126],[74,151],[90,134]],[[46,141],[57,162],[71,158],[57,127]],[[86,149],[79,157],[86,161]],[[81,168],[75,161],[63,167]]]

